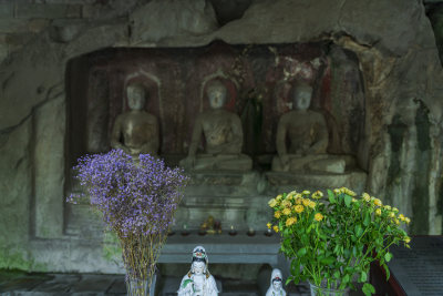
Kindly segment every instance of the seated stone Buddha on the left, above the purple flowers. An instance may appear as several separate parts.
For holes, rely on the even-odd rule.
[[[135,160],[141,153],[156,155],[159,146],[157,119],[144,110],[145,89],[141,84],[126,88],[130,111],[115,119],[111,146],[122,149]]]

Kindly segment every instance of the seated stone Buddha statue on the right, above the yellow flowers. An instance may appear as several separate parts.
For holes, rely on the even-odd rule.
[[[311,95],[309,84],[298,83],[292,88],[293,110],[280,118],[277,127],[275,172],[344,172],[346,161],[326,152],[328,127],[323,114],[309,110]]]

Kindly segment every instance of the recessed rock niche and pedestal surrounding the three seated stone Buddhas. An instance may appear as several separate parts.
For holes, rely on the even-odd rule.
[[[68,69],[68,167],[85,153],[111,149],[113,125],[128,110],[125,89],[133,82],[143,85],[145,111],[158,122],[159,157],[178,165],[188,153],[198,115],[210,109],[207,84],[218,80],[227,92],[224,109],[238,116],[241,153],[253,160],[254,169],[190,173],[193,182],[176,227],[195,228],[212,214],[224,227],[264,228],[270,214],[266,201],[280,190],[363,188],[365,173],[356,161],[364,143],[363,121],[356,120],[356,115],[364,118],[357,64],[354,57],[326,42],[249,47],[214,42],[203,48],[106,49],[82,55]],[[277,155],[277,126],[292,109],[290,91],[296,82],[311,85],[310,110],[324,118],[326,153],[344,160],[344,172],[269,172]],[[203,136],[197,154],[206,144]],[[70,188],[75,191],[75,184]],[[79,223],[75,217],[82,216],[73,211],[68,206],[66,225]]]

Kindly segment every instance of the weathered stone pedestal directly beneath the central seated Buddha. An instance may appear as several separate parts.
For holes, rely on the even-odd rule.
[[[176,215],[176,231],[184,224],[197,229],[208,215],[220,221],[224,231],[230,226],[265,231],[271,218],[270,196],[262,194],[266,183],[258,172],[194,172],[190,177]]]

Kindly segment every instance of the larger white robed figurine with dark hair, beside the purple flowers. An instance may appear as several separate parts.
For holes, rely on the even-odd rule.
[[[217,296],[218,289],[214,276],[208,271],[208,258],[203,246],[193,251],[190,271],[182,279],[178,296]]]

